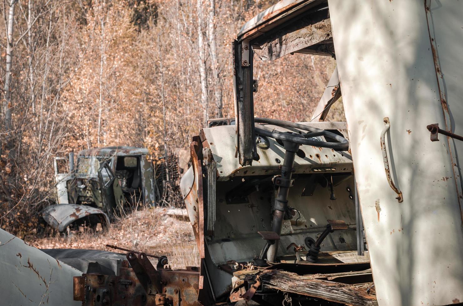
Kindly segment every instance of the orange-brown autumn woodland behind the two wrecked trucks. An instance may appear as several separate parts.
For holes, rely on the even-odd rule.
[[[35,228],[55,200],[55,156],[113,145],[159,156],[188,148],[207,118],[234,116],[231,43],[275,2],[4,1],[1,228]],[[254,62],[256,115],[310,120],[334,60]]]

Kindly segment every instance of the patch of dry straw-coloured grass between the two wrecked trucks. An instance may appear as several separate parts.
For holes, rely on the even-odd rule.
[[[39,249],[116,251],[107,248],[106,244],[117,245],[153,255],[166,255],[172,269],[198,266],[199,252],[190,222],[169,217],[167,210],[159,207],[134,210],[116,220],[103,233],[92,233],[81,228],[81,232],[69,238],[56,234],[29,239],[28,242]]]

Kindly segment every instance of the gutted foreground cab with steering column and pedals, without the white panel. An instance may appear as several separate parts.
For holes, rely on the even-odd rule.
[[[327,16],[326,1],[281,1],[233,43],[237,124],[201,129],[181,181],[205,305],[376,304],[347,124],[323,121],[341,96],[337,70],[312,122],[254,116],[255,58],[334,56]]]

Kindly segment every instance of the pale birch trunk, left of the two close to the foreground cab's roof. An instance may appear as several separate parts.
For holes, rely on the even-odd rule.
[[[203,4],[202,0],[197,0],[197,16],[198,16],[198,50],[199,50],[199,70],[200,70],[200,83],[201,83],[201,105],[203,106],[203,126],[206,126],[209,102],[207,94],[207,80],[206,80],[206,48],[204,45],[204,17],[203,17]]]

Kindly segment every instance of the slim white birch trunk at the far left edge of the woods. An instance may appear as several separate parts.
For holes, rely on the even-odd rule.
[[[9,0],[8,5],[8,22],[6,26],[6,65],[5,65],[5,86],[4,86],[4,100],[3,100],[3,113],[5,119],[5,130],[11,130],[11,66],[13,59],[13,30],[14,30],[14,6],[17,0]]]

